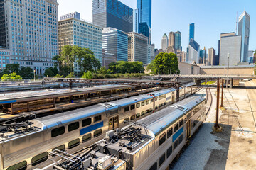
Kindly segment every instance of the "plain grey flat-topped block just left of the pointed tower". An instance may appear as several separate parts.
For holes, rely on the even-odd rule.
[[[237,65],[241,56],[241,35],[222,36],[220,38],[220,65]],[[228,59],[228,53],[230,57]]]

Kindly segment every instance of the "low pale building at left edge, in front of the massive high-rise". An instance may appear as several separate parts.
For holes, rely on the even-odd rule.
[[[0,71],[6,68],[6,64],[11,64],[11,50],[0,47]],[[25,65],[26,63],[19,62],[18,64]]]

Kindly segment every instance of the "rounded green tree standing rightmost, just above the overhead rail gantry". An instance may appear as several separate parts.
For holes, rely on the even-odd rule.
[[[154,74],[179,74],[178,58],[174,53],[159,53],[154,59]],[[153,71],[153,70],[152,70]]]

